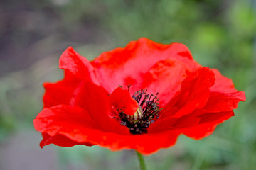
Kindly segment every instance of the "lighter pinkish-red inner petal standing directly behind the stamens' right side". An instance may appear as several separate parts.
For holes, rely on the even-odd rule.
[[[181,82],[190,71],[186,64],[178,60],[161,60],[144,74],[142,88],[146,88],[149,94],[159,92],[162,108],[181,89]]]

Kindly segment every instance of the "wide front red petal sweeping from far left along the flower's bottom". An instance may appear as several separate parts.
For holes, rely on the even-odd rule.
[[[78,106],[44,108],[33,122],[36,130],[43,134],[41,147],[51,143],[62,147],[100,145],[112,150],[136,149],[142,154],[151,154],[174,145],[180,134],[175,130],[144,135],[132,135],[129,130],[122,134],[107,132],[100,129],[91,115]],[[119,125],[119,128],[126,127]]]

